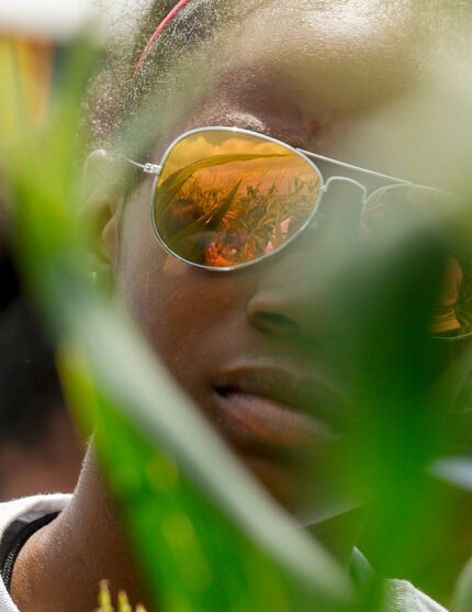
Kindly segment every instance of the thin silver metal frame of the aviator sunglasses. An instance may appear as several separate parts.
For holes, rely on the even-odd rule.
[[[184,257],[181,257],[178,253],[175,253],[173,251],[171,251],[167,246],[165,240],[159,234],[159,231],[156,227],[155,215],[154,215],[154,201],[155,201],[156,192],[157,192],[157,189],[158,189],[159,176],[160,176],[160,173],[162,171],[162,168],[166,164],[166,160],[169,157],[169,155],[171,154],[173,147],[178,143],[180,143],[182,140],[184,140],[188,136],[191,136],[193,134],[205,133],[205,132],[215,132],[215,131],[216,132],[228,132],[228,133],[234,133],[234,134],[246,134],[246,135],[252,136],[252,137],[255,137],[259,141],[276,143],[281,147],[286,148],[289,152],[294,153],[295,155],[300,156],[304,162],[306,162],[313,168],[313,171],[316,174],[316,176],[318,177],[318,180],[319,180],[319,191],[318,191],[318,194],[315,198],[315,201],[314,201],[314,204],[313,204],[313,211],[311,212],[311,214],[308,215],[306,221],[303,223],[303,225],[292,236],[290,236],[290,238],[288,238],[286,242],[284,242],[278,248],[273,249],[271,253],[268,253],[266,255],[262,255],[262,256],[257,257],[255,259],[251,259],[249,262],[245,262],[243,264],[237,264],[235,266],[221,266],[221,267],[205,266],[204,264],[198,264],[195,262],[190,262],[189,259],[186,259]],[[315,163],[313,160],[318,160],[318,162],[323,162],[323,163],[333,164],[337,167],[345,168],[346,170],[364,174],[368,177],[375,178],[377,180],[379,180],[379,179],[384,180],[387,185],[385,185],[384,187],[380,187],[380,188],[377,188],[377,189],[370,191],[366,187],[366,185],[363,185],[362,182],[360,182],[358,180],[355,180],[355,179],[352,179],[348,176],[333,175],[327,180],[325,180],[321,169],[315,165]],[[303,148],[295,148],[295,147],[292,147],[291,145],[289,145],[289,144],[286,144],[282,141],[279,141],[279,140],[273,138],[271,136],[267,136],[266,134],[259,134],[258,132],[252,132],[251,130],[244,130],[241,127],[231,127],[231,126],[224,126],[224,125],[212,125],[212,126],[204,126],[204,127],[195,127],[193,130],[189,130],[187,132],[183,132],[182,134],[180,134],[180,136],[175,138],[172,141],[172,143],[167,147],[167,149],[164,153],[159,164],[151,164],[151,163],[139,164],[139,163],[134,162],[133,159],[128,159],[128,158],[126,158],[126,162],[128,162],[130,164],[132,164],[136,168],[139,168],[143,173],[148,174],[148,175],[153,175],[155,177],[154,178],[154,183],[153,183],[151,196],[150,196],[150,216],[151,216],[151,224],[153,224],[154,231],[155,231],[156,236],[157,236],[160,245],[162,246],[162,248],[169,255],[171,255],[172,257],[175,257],[176,259],[179,259],[180,262],[182,262],[184,264],[188,264],[188,265],[196,267],[196,268],[202,268],[204,270],[215,271],[215,272],[224,272],[224,271],[232,271],[232,270],[239,270],[241,268],[247,268],[248,266],[258,264],[259,262],[263,262],[267,258],[272,257],[272,255],[278,255],[279,253],[281,253],[286,246],[289,246],[293,241],[295,241],[300,236],[300,234],[305,232],[305,230],[307,227],[310,227],[310,225],[312,225],[312,223],[314,223],[314,219],[316,216],[316,212],[319,208],[319,203],[323,199],[323,196],[328,191],[329,187],[336,181],[342,181],[342,182],[348,182],[348,183],[355,185],[356,187],[358,187],[361,190],[361,192],[362,192],[362,199],[361,199],[362,209],[360,211],[360,216],[362,215],[362,213],[366,210],[367,205],[369,204],[370,200],[377,193],[379,193],[381,191],[394,190],[394,189],[397,189],[400,187],[415,187],[415,188],[422,189],[424,191],[432,191],[432,192],[436,192],[436,193],[442,193],[442,194],[446,194],[448,197],[452,196],[451,193],[449,193],[447,191],[442,191],[442,190],[437,189],[435,187],[427,187],[427,186],[424,186],[424,185],[418,185],[418,183],[412,182],[409,180],[404,180],[404,179],[401,179],[401,178],[396,178],[396,177],[392,177],[392,176],[384,175],[384,174],[381,174],[381,173],[377,173],[374,170],[369,170],[367,168],[361,168],[360,166],[353,166],[351,164],[347,164],[346,162],[339,162],[338,159],[331,159],[329,157],[325,157],[323,155],[319,155],[317,153],[313,153],[311,151],[305,151]]]

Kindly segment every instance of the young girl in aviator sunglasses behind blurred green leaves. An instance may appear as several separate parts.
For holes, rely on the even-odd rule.
[[[318,156],[337,157],[428,74],[425,44],[446,15],[422,8],[428,19],[416,21],[418,5],[401,0],[156,2],[132,51],[115,49],[117,68],[94,88],[100,147],[136,118],[127,134],[137,145],[124,145],[134,183],[97,202],[116,292],[245,465],[314,521],[316,482],[306,499],[301,466],[313,449],[336,454],[344,418],[338,304],[321,282],[345,253],[363,190],[392,185],[329,170]],[[393,118],[392,131],[402,130]],[[389,142],[378,134],[375,152],[349,162],[375,166]],[[106,158],[93,154],[89,165]],[[179,182],[182,173],[191,180]],[[3,555],[20,543],[0,586],[2,612],[91,610],[103,577],[142,599],[93,448],[71,498],[20,500],[0,516]],[[326,542],[346,564],[356,539],[347,524],[340,543]],[[394,610],[441,610],[406,583],[396,588]]]

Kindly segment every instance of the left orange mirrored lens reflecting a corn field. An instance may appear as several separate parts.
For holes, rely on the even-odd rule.
[[[313,214],[316,167],[282,143],[232,130],[184,135],[168,152],[154,192],[154,224],[181,259],[234,268],[285,245]]]

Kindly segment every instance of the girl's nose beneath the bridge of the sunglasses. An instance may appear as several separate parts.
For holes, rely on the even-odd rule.
[[[358,243],[361,202],[357,186],[331,183],[312,225],[260,264],[259,281],[247,303],[252,325],[306,342],[339,334],[344,304],[337,303],[336,279]]]

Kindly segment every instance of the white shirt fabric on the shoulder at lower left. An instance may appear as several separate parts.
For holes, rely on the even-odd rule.
[[[33,521],[52,512],[60,512],[70,496],[50,494],[22,498],[0,503],[0,568],[18,534]],[[0,577],[0,612],[19,612]]]

